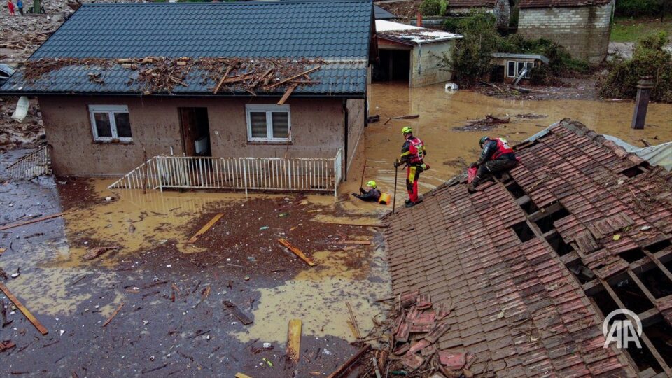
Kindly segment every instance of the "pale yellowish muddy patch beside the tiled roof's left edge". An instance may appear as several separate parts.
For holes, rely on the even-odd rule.
[[[354,248],[313,256],[316,267],[304,269],[281,286],[258,289],[261,297],[253,325],[232,335],[241,342],[260,339],[285,344],[287,325],[297,318],[303,322],[304,337],[330,335],[353,342],[346,302],[351,304],[360,332],[367,335],[374,326],[372,316],[384,312],[375,300],[391,295],[383,250]]]

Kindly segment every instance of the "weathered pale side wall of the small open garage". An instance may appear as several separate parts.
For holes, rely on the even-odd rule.
[[[455,40],[417,45],[411,51],[410,87],[423,87],[449,81],[453,72],[439,66],[443,53],[451,56]]]

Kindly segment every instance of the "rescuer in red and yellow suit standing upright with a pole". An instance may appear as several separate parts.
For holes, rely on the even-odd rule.
[[[423,159],[427,155],[425,144],[420,138],[413,135],[413,129],[404,127],[401,130],[406,141],[401,147],[401,161],[395,161],[394,166],[406,165],[406,189],[408,190],[408,200],[405,201],[406,207],[413,207],[422,202],[418,197],[418,179],[423,171],[429,169]]]

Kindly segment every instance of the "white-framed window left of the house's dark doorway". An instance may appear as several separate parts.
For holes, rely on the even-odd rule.
[[[89,105],[94,141],[133,140],[128,106]]]

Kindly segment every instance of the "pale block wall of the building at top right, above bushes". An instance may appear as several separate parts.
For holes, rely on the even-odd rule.
[[[607,56],[614,0],[602,6],[522,8],[518,34],[548,38],[563,45],[577,59],[592,64]]]

